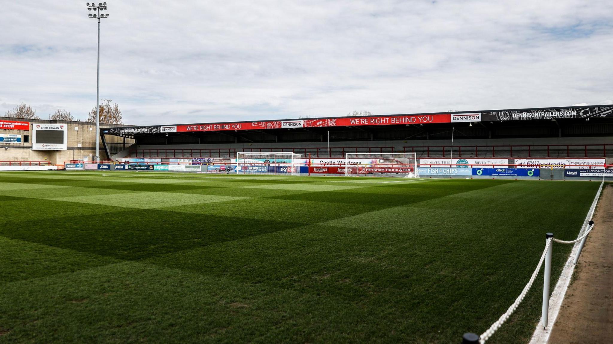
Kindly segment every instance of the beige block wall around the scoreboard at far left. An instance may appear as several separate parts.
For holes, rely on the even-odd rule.
[[[21,135],[21,143],[0,142],[0,161],[48,161],[52,164],[62,164],[65,161],[83,159],[96,155],[96,123],[81,121],[49,121],[43,119],[23,120],[15,118],[0,117],[2,121],[22,121],[30,123],[44,124],[66,124],[68,141],[66,151],[34,151],[32,150],[32,125],[29,130],[8,130],[0,129],[3,134]],[[119,127],[123,125],[101,124],[101,127]],[[28,142],[25,141],[28,136]],[[113,135],[105,135],[107,142],[114,146],[123,145],[123,138]],[[134,140],[126,139],[126,146],[134,143]],[[100,143],[101,159],[108,159]]]

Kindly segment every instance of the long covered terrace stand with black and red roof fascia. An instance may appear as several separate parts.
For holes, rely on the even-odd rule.
[[[134,140],[122,151],[109,152],[114,160],[232,158],[237,152],[314,158],[355,152],[414,152],[417,158],[603,158],[613,154],[612,111],[613,105],[532,108],[117,127],[101,133]]]

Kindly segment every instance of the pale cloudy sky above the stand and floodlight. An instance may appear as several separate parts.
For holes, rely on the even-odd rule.
[[[85,0],[2,2],[0,114],[96,103]],[[127,124],[613,103],[613,1],[109,0]]]

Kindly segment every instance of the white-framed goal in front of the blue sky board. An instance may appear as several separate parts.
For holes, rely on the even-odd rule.
[[[300,154],[292,152],[237,152],[237,174],[300,176]]]

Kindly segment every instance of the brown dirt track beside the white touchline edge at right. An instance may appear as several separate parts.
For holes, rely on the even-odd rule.
[[[605,185],[549,343],[613,340],[613,184]]]

